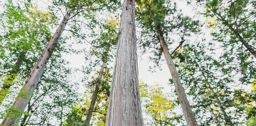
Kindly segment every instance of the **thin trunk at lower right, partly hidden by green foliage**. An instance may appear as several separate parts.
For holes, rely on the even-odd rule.
[[[206,83],[209,86],[209,89],[211,90],[212,96],[214,96],[215,101],[217,102],[218,106],[221,108],[221,112],[224,115],[224,120],[227,122],[228,126],[233,126],[230,116],[227,115],[227,112],[225,111],[224,107],[221,105],[221,101],[215,95],[215,92],[214,92],[212,86],[209,84],[207,77],[205,77],[204,72],[200,69],[200,67],[199,67],[199,70],[202,72],[202,75],[203,75],[204,79],[206,80]]]

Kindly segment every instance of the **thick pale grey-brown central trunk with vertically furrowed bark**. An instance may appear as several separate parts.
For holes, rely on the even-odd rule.
[[[124,0],[106,126],[143,126],[138,80],[135,0]]]

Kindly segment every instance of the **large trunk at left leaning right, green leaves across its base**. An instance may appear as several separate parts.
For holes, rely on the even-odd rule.
[[[59,37],[64,31],[67,21],[70,18],[71,12],[72,11],[70,10],[61,21],[60,26],[55,31],[55,34],[52,36],[51,40],[47,44],[47,47],[46,49],[44,49],[44,52],[42,53],[41,57],[39,57],[38,62],[35,64],[34,68],[32,69],[32,72],[29,74],[26,82],[20,90],[20,93],[16,97],[15,102],[13,103],[11,109],[9,110],[1,124],[8,126],[18,125],[20,117],[23,115],[23,112],[27,104],[29,103],[29,100],[32,97],[33,92],[35,91],[35,88],[40,80],[40,77],[44,72],[44,68],[49,60],[49,57],[55,49]]]

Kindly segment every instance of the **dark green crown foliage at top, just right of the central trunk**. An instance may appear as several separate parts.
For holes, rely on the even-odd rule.
[[[173,1],[137,0],[136,4],[136,19],[143,30],[140,32],[138,43],[143,53],[153,54],[150,57],[156,64],[153,68],[160,67],[160,61],[162,61],[163,50],[159,35],[164,37],[169,49],[172,49],[170,47],[173,42],[180,42],[192,33],[199,33],[199,21],[183,16]]]

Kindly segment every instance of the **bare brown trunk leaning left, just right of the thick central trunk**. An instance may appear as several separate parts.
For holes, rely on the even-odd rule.
[[[168,65],[169,70],[172,74],[172,79],[173,79],[173,82],[174,82],[174,85],[175,85],[175,89],[176,89],[176,92],[177,92],[177,95],[178,95],[178,98],[179,98],[179,102],[180,102],[184,117],[186,119],[186,123],[187,123],[188,126],[198,126],[198,124],[195,120],[195,115],[192,112],[192,109],[189,105],[189,101],[186,97],[185,91],[184,91],[183,86],[180,82],[180,77],[179,77],[179,75],[177,73],[177,70],[175,68],[175,65],[173,63],[171,54],[170,54],[169,49],[166,45],[166,42],[163,38],[163,34],[160,34],[160,33],[161,32],[158,32],[158,37],[159,37],[161,46],[163,48],[163,54],[166,58],[167,65]]]

